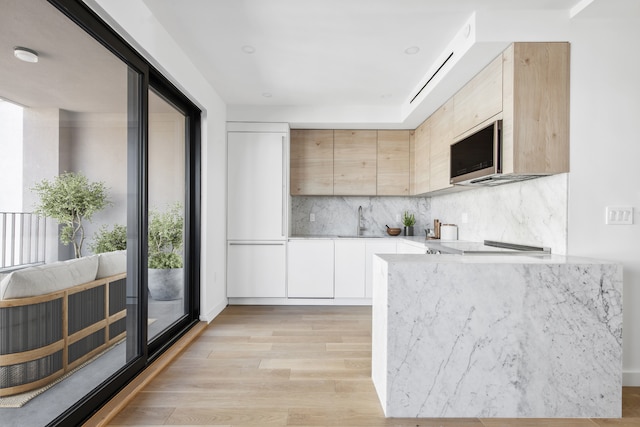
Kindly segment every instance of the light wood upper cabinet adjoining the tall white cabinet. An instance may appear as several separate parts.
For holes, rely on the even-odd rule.
[[[291,130],[291,195],[333,194],[333,130]]]

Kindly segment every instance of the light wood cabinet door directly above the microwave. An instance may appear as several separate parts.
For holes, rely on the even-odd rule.
[[[453,96],[453,136],[502,111],[502,55]]]

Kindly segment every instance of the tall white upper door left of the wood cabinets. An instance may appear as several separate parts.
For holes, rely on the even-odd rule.
[[[227,135],[227,240],[286,236],[286,134]]]

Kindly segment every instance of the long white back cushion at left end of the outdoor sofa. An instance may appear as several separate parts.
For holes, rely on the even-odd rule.
[[[0,282],[0,300],[44,295],[92,282],[97,272],[97,255],[17,270]]]

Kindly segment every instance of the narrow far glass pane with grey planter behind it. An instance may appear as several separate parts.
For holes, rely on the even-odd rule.
[[[186,313],[186,117],[149,91],[149,319],[153,340]]]

